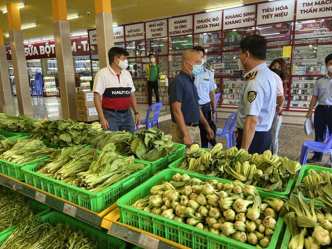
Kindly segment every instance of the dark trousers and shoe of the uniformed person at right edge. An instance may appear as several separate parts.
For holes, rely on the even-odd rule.
[[[332,134],[332,108],[324,108],[322,105],[317,105],[315,109],[314,128],[315,141],[324,142],[324,135],[326,133],[326,125],[329,128],[330,136]],[[314,158],[322,159],[322,152],[315,152]]]

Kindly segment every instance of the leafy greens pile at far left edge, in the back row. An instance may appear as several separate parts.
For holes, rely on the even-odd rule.
[[[5,116],[0,114],[0,129],[14,133],[32,133],[32,131],[44,122],[48,121],[46,117],[35,122],[29,115]]]

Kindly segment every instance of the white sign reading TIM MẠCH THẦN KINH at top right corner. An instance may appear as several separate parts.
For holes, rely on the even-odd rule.
[[[298,0],[296,6],[296,19],[314,19],[331,17],[332,0]]]

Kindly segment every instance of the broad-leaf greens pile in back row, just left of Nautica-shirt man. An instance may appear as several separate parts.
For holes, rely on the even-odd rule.
[[[89,136],[101,130],[100,123],[85,124],[72,119],[43,122],[29,138],[47,139],[52,145],[75,146],[86,143]]]

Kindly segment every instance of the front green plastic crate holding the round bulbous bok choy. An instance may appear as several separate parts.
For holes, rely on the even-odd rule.
[[[219,236],[212,232],[206,232],[199,228],[177,222],[163,216],[158,216],[138,210],[131,205],[138,199],[142,199],[150,195],[152,186],[163,184],[164,181],[170,181],[172,176],[178,173],[178,169],[165,169],[147,182],[138,186],[125,196],[116,201],[120,213],[120,222],[153,233],[155,235],[164,237],[173,242],[179,243],[189,248],[199,249],[254,249],[255,247],[244,244],[223,236]],[[187,173],[191,178],[196,177],[201,181],[206,178],[202,175]],[[219,181],[221,182],[221,181]],[[230,182],[230,181],[229,181]],[[263,197],[278,197],[277,195],[265,191],[258,190],[260,196]],[[279,234],[282,231],[283,219],[279,218],[276,229],[272,235],[268,249],[275,249]]]

